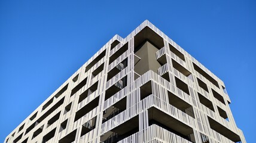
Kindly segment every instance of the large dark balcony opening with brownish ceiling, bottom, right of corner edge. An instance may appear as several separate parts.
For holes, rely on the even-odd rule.
[[[194,132],[190,126],[185,125],[155,107],[148,109],[148,122],[149,125],[158,125],[161,128],[169,130],[170,132],[187,139],[188,141],[194,142],[193,138],[191,138],[191,136],[194,136]]]

